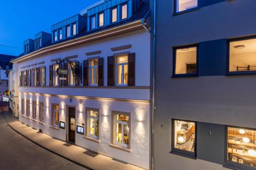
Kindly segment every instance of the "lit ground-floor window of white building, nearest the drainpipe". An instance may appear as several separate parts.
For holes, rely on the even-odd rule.
[[[130,114],[114,114],[114,143],[130,149]]]

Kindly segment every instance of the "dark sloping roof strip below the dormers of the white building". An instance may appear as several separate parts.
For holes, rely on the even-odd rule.
[[[123,20],[123,21],[120,21],[120,22],[116,22],[116,23],[113,23],[111,25],[108,25],[108,26],[105,26],[105,27],[102,27],[102,28],[98,28],[96,30],[92,30],[92,31],[89,31],[89,32],[86,32],[86,29],[83,29],[81,31],[81,33],[77,34],[76,36],[73,36],[73,37],[70,37],[70,38],[66,38],[66,39],[63,39],[63,40],[60,40],[60,41],[57,41],[57,42],[52,42],[52,43],[47,44],[47,45],[42,45],[40,48],[43,48],[43,47],[46,47],[46,46],[50,46],[50,45],[54,45],[54,44],[58,44],[58,43],[65,42],[65,41],[69,41],[71,39],[76,39],[78,37],[82,37],[82,36],[85,36],[85,35],[93,34],[93,33],[96,33],[96,32],[101,32],[101,31],[104,31],[104,30],[111,29],[113,27],[125,25],[126,23],[139,20],[139,19],[143,18],[148,13],[148,11],[150,11],[150,0],[140,0],[140,1],[142,2],[142,5],[140,6],[139,9],[137,9],[137,11],[129,19],[126,19],[126,20]],[[32,53],[34,51],[37,51],[40,48],[38,48],[36,50],[32,50],[30,53]],[[27,53],[27,54],[29,54],[29,53]],[[20,54],[16,58],[22,57],[24,55],[25,55],[24,53]]]

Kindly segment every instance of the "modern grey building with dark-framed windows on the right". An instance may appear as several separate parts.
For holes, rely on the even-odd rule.
[[[255,9],[157,1],[155,169],[256,169]]]

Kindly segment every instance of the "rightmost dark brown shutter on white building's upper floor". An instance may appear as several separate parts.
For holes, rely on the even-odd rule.
[[[135,53],[128,54],[128,86],[135,86]]]

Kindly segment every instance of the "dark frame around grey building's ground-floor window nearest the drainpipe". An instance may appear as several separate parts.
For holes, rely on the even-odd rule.
[[[175,139],[175,128],[174,128],[175,120],[195,123],[195,152],[184,151],[184,150],[176,149],[174,147],[174,145],[175,145],[175,140],[174,140]],[[183,157],[187,157],[187,158],[191,158],[191,159],[197,159],[197,122],[192,121],[192,120],[183,120],[183,119],[172,118],[171,137],[172,137],[171,151],[169,152],[170,154],[175,154],[175,155],[179,155],[179,156],[183,156]]]

